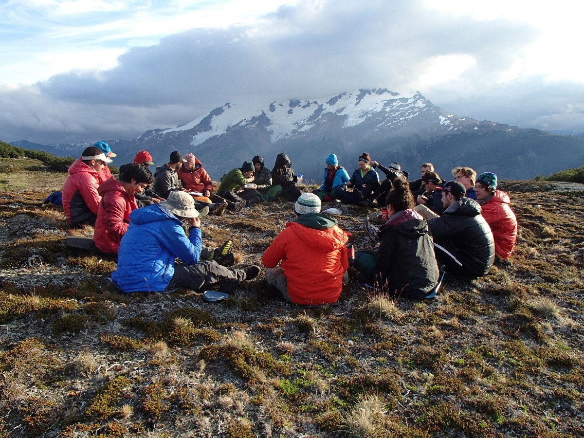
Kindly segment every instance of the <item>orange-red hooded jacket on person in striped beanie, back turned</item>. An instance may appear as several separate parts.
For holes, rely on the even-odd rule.
[[[304,214],[286,228],[263,253],[266,267],[281,267],[288,295],[297,304],[335,303],[349,267],[346,243],[350,234],[325,214]]]

